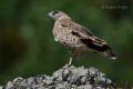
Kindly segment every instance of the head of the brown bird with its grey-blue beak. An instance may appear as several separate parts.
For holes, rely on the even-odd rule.
[[[62,11],[55,10],[55,11],[51,11],[48,13],[50,18],[52,18],[54,21],[59,20],[61,18],[69,18],[68,14],[65,14]]]

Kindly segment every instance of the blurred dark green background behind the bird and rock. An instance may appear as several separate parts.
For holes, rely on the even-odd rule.
[[[115,82],[133,83],[132,0],[0,0],[0,85],[17,77],[52,75],[69,52],[54,42],[52,10],[66,12],[112,47],[117,60],[90,53],[74,66],[95,67]]]

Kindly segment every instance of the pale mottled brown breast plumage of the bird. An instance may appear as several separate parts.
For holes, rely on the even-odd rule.
[[[80,39],[72,34],[71,22],[62,23],[57,21],[53,28],[54,38],[59,39],[59,42],[68,46],[68,47],[80,47],[82,43]]]

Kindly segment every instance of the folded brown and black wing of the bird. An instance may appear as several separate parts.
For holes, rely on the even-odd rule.
[[[95,37],[91,31],[86,30],[84,27],[76,26],[72,29],[71,33],[80,38],[81,42],[86,44],[98,51],[104,51],[110,49],[106,42],[98,37]]]

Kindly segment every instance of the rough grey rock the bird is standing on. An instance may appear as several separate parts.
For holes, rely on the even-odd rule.
[[[84,67],[61,68],[52,76],[18,77],[3,89],[112,89],[114,83],[98,69]]]

